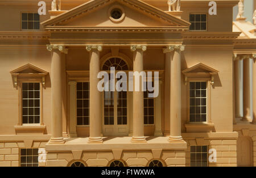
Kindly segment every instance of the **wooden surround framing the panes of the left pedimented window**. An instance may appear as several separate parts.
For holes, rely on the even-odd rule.
[[[43,84],[42,79],[40,78],[20,78],[18,79],[18,98],[19,98],[19,126],[42,126],[44,125],[43,122]],[[22,123],[22,83],[39,83],[40,84],[40,122],[39,124],[23,124]]]

